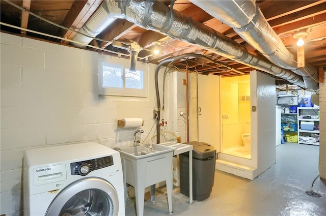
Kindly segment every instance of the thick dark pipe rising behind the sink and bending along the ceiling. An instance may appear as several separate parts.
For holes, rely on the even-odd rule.
[[[206,57],[204,55],[197,54],[197,53],[187,53],[187,54],[182,54],[182,55],[179,55],[179,56],[176,56],[176,57],[164,59],[156,66],[154,79],[155,79],[155,92],[156,92],[156,100],[157,100],[157,119],[156,119],[157,144],[160,143],[159,121],[160,121],[160,110],[161,110],[161,102],[160,102],[159,90],[158,90],[158,71],[164,64],[172,63],[173,61],[176,61],[176,60],[179,60],[179,59],[185,58],[185,57],[205,58],[206,60],[210,61],[211,63],[214,63],[214,61],[212,59],[210,59],[210,58],[208,58],[208,57]]]

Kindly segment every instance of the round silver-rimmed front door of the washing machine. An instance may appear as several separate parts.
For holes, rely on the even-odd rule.
[[[69,184],[51,202],[45,216],[118,215],[119,200],[112,184],[102,178],[83,178]]]

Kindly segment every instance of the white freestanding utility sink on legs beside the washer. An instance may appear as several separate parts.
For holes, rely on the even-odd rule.
[[[172,213],[172,157],[175,147],[161,144],[148,144],[117,148],[120,152],[125,200],[127,184],[135,191],[137,215],[144,215],[145,188],[151,186],[151,201],[155,202],[155,184],[166,181],[169,213]]]

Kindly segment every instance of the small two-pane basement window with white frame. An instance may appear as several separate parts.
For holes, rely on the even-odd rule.
[[[130,71],[122,65],[100,63],[99,94],[109,96],[147,97],[146,72]]]

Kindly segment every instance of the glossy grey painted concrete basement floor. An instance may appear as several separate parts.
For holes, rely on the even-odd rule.
[[[254,180],[215,171],[208,199],[189,204],[174,188],[172,215],[326,215],[326,186],[317,178],[319,146],[285,143],[276,147],[276,164]],[[155,204],[145,196],[144,215],[169,215],[166,188],[156,190]],[[126,203],[126,215],[135,215],[134,199]]]

